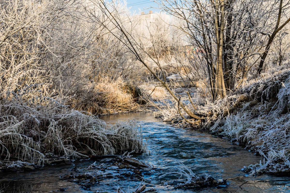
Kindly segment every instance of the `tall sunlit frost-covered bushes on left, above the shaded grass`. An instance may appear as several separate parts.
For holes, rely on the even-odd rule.
[[[41,92],[26,101],[51,97],[96,114],[138,107],[122,91],[131,56],[93,22],[103,17],[96,9],[84,0],[1,1],[0,98],[31,87]]]

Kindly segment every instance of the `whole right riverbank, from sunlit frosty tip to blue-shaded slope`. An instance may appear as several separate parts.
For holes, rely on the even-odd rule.
[[[255,165],[250,172],[255,174],[288,173],[290,168],[290,70],[262,74],[261,78],[245,82],[226,98],[212,103],[204,101],[187,107],[203,117],[186,122],[178,113],[176,105],[161,112],[165,121],[179,126],[209,130],[212,135],[226,137],[244,144],[247,149],[260,154],[264,161]]]

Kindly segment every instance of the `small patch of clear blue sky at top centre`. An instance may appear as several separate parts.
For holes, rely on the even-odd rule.
[[[145,14],[147,14],[150,10],[152,10],[153,13],[160,12],[159,9],[150,8],[150,7],[158,7],[157,3],[154,3],[150,0],[127,0],[127,6],[128,7],[132,6],[132,8],[130,10],[131,10],[131,12],[136,11],[136,14],[138,14],[139,8],[141,9],[141,11],[148,8],[148,9],[143,11],[143,12],[145,12]]]

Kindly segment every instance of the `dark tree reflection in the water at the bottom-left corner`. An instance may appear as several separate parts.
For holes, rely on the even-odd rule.
[[[19,181],[10,181],[0,183],[0,192],[2,193],[30,193],[33,185],[30,183],[21,183]]]

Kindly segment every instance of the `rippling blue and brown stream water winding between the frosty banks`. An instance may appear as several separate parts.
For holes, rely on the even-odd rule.
[[[157,189],[157,192],[216,192],[216,193],[282,193],[290,192],[290,177],[274,177],[263,175],[260,177],[244,177],[241,168],[250,164],[259,163],[261,157],[244,150],[243,147],[231,144],[222,138],[215,138],[206,132],[173,127],[170,124],[154,118],[152,113],[128,113],[108,115],[101,117],[104,121],[114,124],[117,120],[135,119],[142,127],[144,138],[148,138],[150,155],[134,155],[140,161],[149,163],[153,170],[143,174],[143,183],[146,190]],[[0,192],[13,193],[40,193],[40,192],[116,192],[118,187],[125,191],[136,190],[140,181],[137,179],[120,179],[114,174],[90,189],[74,182],[60,180],[60,176],[69,174],[76,167],[80,172],[92,172],[88,166],[91,160],[74,161],[60,165],[44,167],[42,170],[32,172],[2,173],[0,175]],[[201,190],[175,189],[184,177],[169,172],[178,172],[190,168],[194,173],[210,174],[216,179],[228,178],[229,185],[218,188],[205,188]],[[106,161],[97,164],[107,163]],[[114,167],[106,171],[116,170]],[[130,172],[122,169],[124,172]],[[126,171],[125,171],[126,170]],[[117,173],[122,172],[121,170]],[[114,171],[113,171],[114,173]],[[244,182],[248,181],[244,185]],[[239,187],[240,185],[241,188]]]

